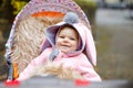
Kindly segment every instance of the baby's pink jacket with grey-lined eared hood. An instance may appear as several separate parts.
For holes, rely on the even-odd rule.
[[[91,30],[89,30],[79,21],[68,22],[68,19],[64,19],[63,22],[60,22],[45,30],[47,40],[41,47],[43,52],[28,65],[28,67],[20,74],[18,80],[24,80],[29,78],[35,66],[44,65],[47,63],[47,61],[50,58],[51,52],[53,52],[55,48],[55,36],[62,25],[73,26],[79,33],[81,43],[79,50],[75,52],[66,54],[59,52],[58,55],[54,56],[54,65],[63,64],[64,68],[71,67],[73,70],[80,72],[80,74],[86,80],[101,81],[100,76],[93,68],[93,66],[96,65],[96,51]],[[85,51],[86,55],[82,53],[83,51]]]

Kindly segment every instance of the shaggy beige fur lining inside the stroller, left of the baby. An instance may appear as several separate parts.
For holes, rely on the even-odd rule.
[[[19,73],[40,54],[45,28],[62,21],[62,18],[27,16],[18,22],[13,35],[11,58],[18,63]]]

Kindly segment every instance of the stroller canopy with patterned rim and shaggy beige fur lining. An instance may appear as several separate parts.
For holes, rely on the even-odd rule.
[[[62,21],[66,12],[75,12],[90,28],[85,13],[73,0],[31,0],[19,12],[6,44],[4,56],[10,67],[8,79],[16,79],[40,54],[44,29]]]

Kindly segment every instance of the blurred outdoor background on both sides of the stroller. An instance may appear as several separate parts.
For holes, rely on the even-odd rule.
[[[0,80],[7,78],[4,44],[14,16],[30,0],[0,0]],[[74,0],[85,12],[103,80],[133,79],[133,0]]]

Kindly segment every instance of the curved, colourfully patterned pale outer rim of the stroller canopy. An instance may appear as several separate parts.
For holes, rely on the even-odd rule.
[[[13,42],[16,40],[14,34],[18,31],[17,28],[20,25],[21,21],[23,21],[25,18],[29,18],[29,16],[31,16],[35,13],[40,13],[40,12],[54,12],[54,13],[60,12],[62,14],[65,14],[66,12],[75,12],[80,16],[80,20],[86,26],[90,28],[90,23],[88,21],[85,13],[73,0],[31,0],[31,1],[29,1],[27,3],[27,6],[16,16],[12,28],[11,28],[9,38],[6,44],[4,56],[6,56],[7,62],[10,65],[8,79],[16,79],[13,76],[13,73],[16,73],[14,67],[13,67],[13,62],[16,59],[12,57],[12,52],[13,52],[12,46],[16,46]],[[41,16],[43,16],[43,15],[41,15]],[[29,40],[27,40],[27,41],[29,41]],[[19,51],[21,52],[21,50],[19,50]]]

